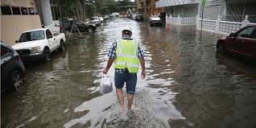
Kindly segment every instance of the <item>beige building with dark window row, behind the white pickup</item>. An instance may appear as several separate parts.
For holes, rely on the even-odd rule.
[[[23,31],[41,27],[34,0],[1,1],[1,41],[12,46]]]

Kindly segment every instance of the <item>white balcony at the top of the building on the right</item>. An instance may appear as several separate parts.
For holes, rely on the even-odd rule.
[[[155,7],[180,6],[185,4],[200,3],[200,0],[162,0],[155,2]]]

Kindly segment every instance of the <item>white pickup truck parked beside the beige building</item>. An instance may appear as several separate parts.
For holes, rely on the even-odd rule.
[[[41,59],[45,62],[50,60],[51,52],[65,50],[64,33],[52,33],[48,28],[39,28],[31,31],[24,31],[16,44],[12,46],[23,60]]]

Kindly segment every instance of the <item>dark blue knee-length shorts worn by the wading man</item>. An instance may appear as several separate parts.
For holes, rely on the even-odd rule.
[[[116,69],[114,72],[114,83],[117,89],[122,89],[126,82],[126,93],[133,95],[137,83],[137,73],[129,73],[128,69]]]

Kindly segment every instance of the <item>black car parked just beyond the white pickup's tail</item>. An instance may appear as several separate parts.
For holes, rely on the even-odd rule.
[[[76,27],[78,28],[78,30],[80,32],[90,32],[90,31],[96,31],[97,27],[95,24],[91,24],[91,23],[83,23],[79,20],[68,20],[66,22],[64,22],[64,29],[65,31],[69,31],[71,32],[77,32],[76,30],[76,27],[73,26],[73,29],[72,29],[72,24],[74,23],[74,25],[76,25]]]

